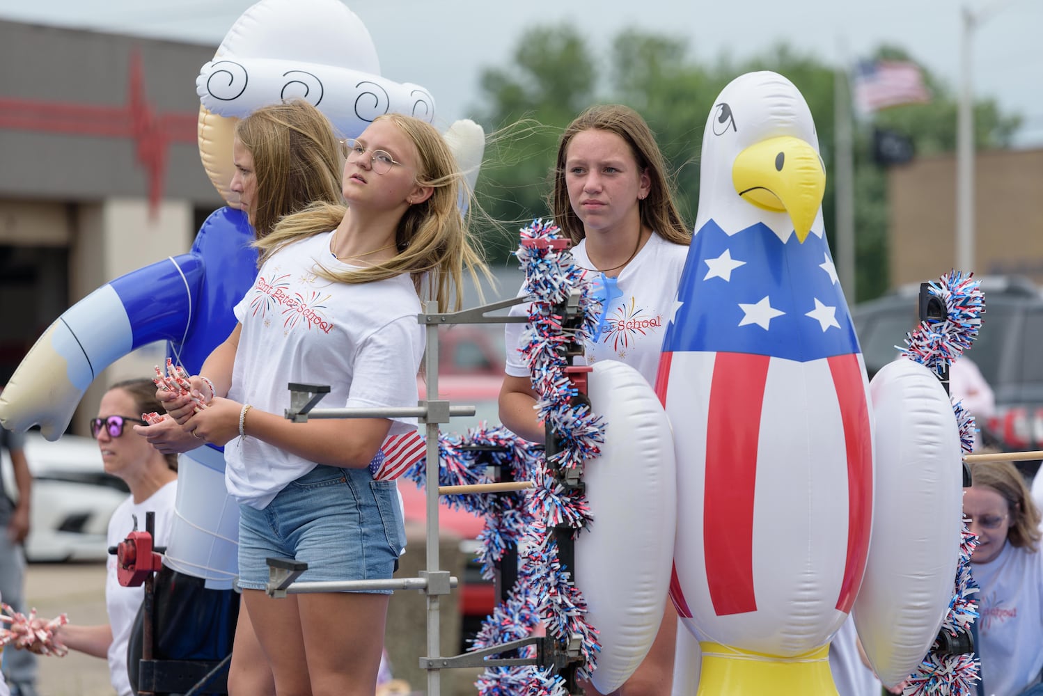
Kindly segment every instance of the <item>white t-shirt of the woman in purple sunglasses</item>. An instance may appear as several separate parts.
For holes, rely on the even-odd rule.
[[[153,545],[166,546],[170,541],[170,528],[174,524],[174,503],[177,498],[177,481],[173,480],[153,493],[147,500],[135,503],[132,496],[120,503],[108,520],[108,545],[116,546],[134,530],[134,516],[138,516],[138,529],[145,530],[145,513],[155,513],[155,538]],[[108,646],[108,674],[113,688],[119,696],[130,696],[130,679],[127,676],[127,642],[134,626],[138,608],[145,597],[145,588],[124,588],[116,575],[117,558],[110,555],[105,564],[105,611],[108,625],[113,629],[113,643]]]

